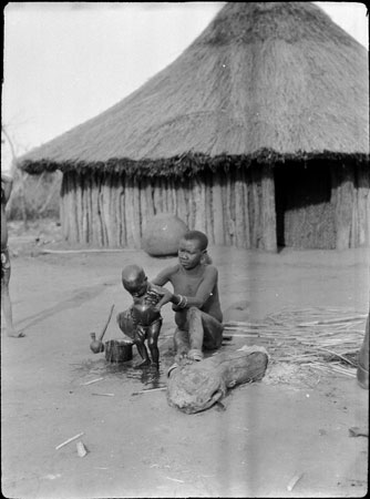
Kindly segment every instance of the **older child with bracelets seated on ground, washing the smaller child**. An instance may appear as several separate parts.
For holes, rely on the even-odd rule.
[[[218,271],[207,255],[207,236],[189,231],[178,244],[178,264],[162,271],[153,284],[171,283],[177,329],[174,335],[176,360],[202,360],[203,348],[219,348],[223,314],[218,297]],[[167,299],[167,298],[166,298]]]

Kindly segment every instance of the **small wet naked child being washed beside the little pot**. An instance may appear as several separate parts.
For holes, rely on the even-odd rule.
[[[150,283],[143,268],[137,265],[129,265],[122,271],[122,284],[134,298],[134,303],[129,310],[117,315],[117,323],[121,330],[136,345],[143,359],[135,367],[151,364],[145,347],[145,340],[147,339],[152,361],[158,369],[160,352],[157,343],[162,327],[161,307],[169,302],[172,293]]]

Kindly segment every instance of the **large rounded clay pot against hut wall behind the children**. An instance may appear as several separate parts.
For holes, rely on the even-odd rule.
[[[151,256],[177,255],[178,242],[187,231],[187,225],[181,218],[161,213],[147,220],[142,248]]]

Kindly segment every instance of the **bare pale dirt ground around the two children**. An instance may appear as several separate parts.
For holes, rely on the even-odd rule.
[[[35,241],[38,238],[38,241]],[[173,361],[171,307],[161,333],[161,373],[94,355],[110,307],[127,308],[121,269],[143,265],[150,277],[176,258],[142,251],[42,254],[68,247],[59,227],[10,224],[11,296],[22,339],[2,334],[2,493],[9,498],[362,497],[367,493],[368,390],[353,378],[321,375],[236,387],[219,407],[185,415],[168,406]],[[210,247],[223,309],[250,303],[251,318],[284,307],[369,307],[369,251],[258,253]],[[363,322],[364,330],[364,322]],[[3,333],[3,332],[2,332]],[[111,320],[105,338],[120,338]],[[227,347],[239,348],[243,338]],[[359,345],[360,347],[360,345]],[[134,352],[134,361],[138,359]],[[90,380],[103,378],[84,385]],[[97,395],[96,395],[97,394]],[[104,396],[102,394],[113,394]],[[83,432],[79,457],[68,438]],[[289,481],[301,476],[292,491]]]

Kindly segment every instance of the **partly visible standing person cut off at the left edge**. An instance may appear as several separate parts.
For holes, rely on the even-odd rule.
[[[13,326],[11,301],[9,296],[10,258],[8,249],[8,227],[6,206],[10,197],[13,181],[1,173],[1,309],[6,319],[7,335],[22,338],[24,333],[17,333]]]

